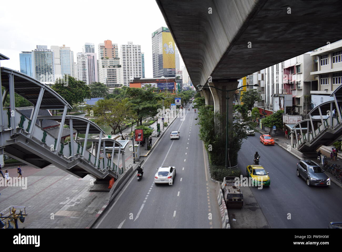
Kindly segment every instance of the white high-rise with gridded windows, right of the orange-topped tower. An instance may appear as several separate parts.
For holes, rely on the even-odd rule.
[[[127,42],[120,47],[121,62],[121,82],[124,86],[129,86],[130,80],[134,77],[142,77],[141,46]]]

